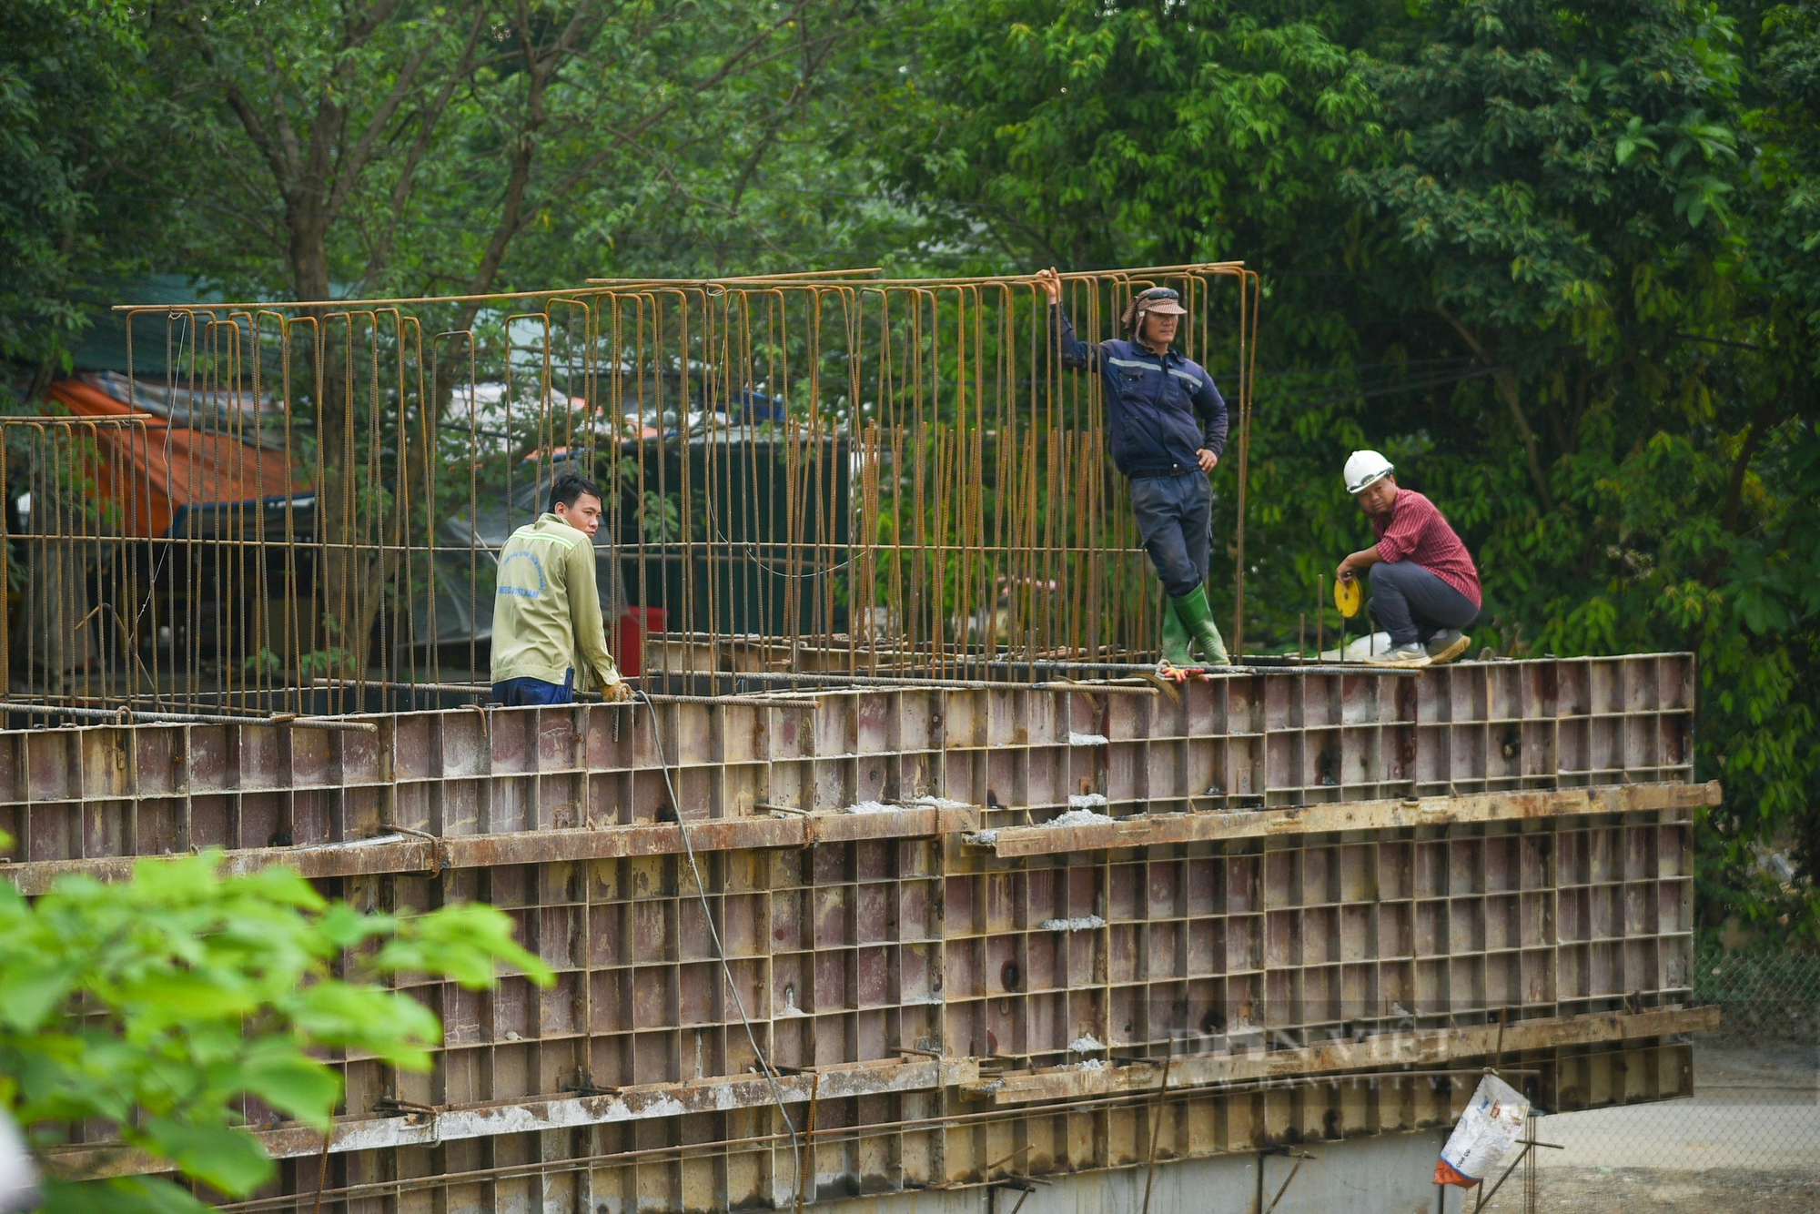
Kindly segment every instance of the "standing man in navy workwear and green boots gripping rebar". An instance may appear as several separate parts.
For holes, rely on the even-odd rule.
[[[1097,368],[1105,382],[1112,462],[1130,481],[1132,513],[1150,564],[1168,595],[1163,613],[1163,668],[1188,666],[1199,650],[1225,666],[1227,642],[1207,602],[1214,493],[1207,482],[1227,446],[1227,402],[1207,369],[1176,349],[1187,309],[1170,288],[1132,297],[1125,339],[1083,342],[1061,308],[1061,275],[1045,269],[1048,324],[1061,364]]]

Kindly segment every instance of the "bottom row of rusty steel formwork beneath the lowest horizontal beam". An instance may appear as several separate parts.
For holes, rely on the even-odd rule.
[[[792,1085],[788,1108],[803,1172],[814,1178],[803,1196],[815,1203],[1145,1167],[1152,1143],[1154,1159],[1167,1165],[1443,1127],[1465,1108],[1491,1059],[1456,1061],[1445,1072],[1283,1077],[1228,1090],[1165,1088],[1163,1067],[1152,1065],[1138,1068],[1148,1087],[1134,1079],[1128,1092],[1023,1108],[941,1090],[854,1096],[830,1083],[814,1094],[810,1083],[810,1092]],[[1691,1047],[1667,1037],[1505,1050],[1500,1061],[1551,1112],[1693,1094]],[[546,1123],[535,1116],[511,1125],[510,1116],[499,1118],[497,1134],[455,1138],[439,1134],[437,1123],[460,1114],[404,1114],[393,1138],[410,1145],[335,1150],[326,1163],[298,1141],[277,1183],[229,1209],[313,1210],[318,1178],[326,1179],[320,1207],[335,1214],[795,1205],[795,1148],[775,1107],[553,1128],[541,1128]]]

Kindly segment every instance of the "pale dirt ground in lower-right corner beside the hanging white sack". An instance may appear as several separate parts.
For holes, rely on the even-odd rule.
[[[1536,1209],[1820,1214],[1820,1050],[1700,1043],[1694,1092],[1542,1118],[1538,1138],[1563,1148],[1542,1152]],[[1522,1185],[1485,1210],[1522,1210]]]

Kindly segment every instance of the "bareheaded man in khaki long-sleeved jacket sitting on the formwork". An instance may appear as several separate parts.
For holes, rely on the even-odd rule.
[[[601,486],[568,473],[550,488],[550,513],[521,526],[499,550],[493,699],[500,704],[571,704],[590,677],[604,699],[632,699],[606,652],[593,581],[601,510]]]

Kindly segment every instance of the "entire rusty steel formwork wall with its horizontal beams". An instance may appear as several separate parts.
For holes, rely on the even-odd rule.
[[[335,1059],[340,1209],[768,1207],[792,1148],[728,981],[812,1076],[823,1198],[1434,1125],[1465,1096],[1432,1074],[1090,1092],[1420,1034],[1478,1032],[1481,1063],[1494,1021],[1678,1007],[1716,795],[1687,784],[1691,712],[1691,659],[1649,655],[9,732],[0,828],[27,892],[226,846],[357,906],[513,916],[553,986],[404,983],[444,1021],[435,1070]],[[1558,1107],[1691,1083],[1667,1037],[1576,1041],[1536,1054]],[[1088,1096],[994,1105],[1012,1079]],[[371,1145],[389,1101],[482,1128]],[[513,1130],[553,1105],[581,1112]],[[291,1205],[313,1187],[286,1167]]]

